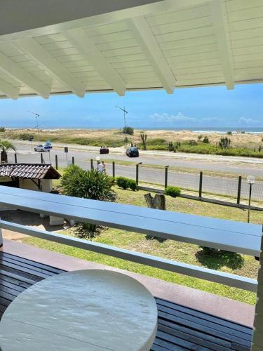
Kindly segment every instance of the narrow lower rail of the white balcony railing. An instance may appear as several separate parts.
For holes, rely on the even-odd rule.
[[[100,244],[98,242],[87,241],[75,237],[68,237],[67,235],[57,234],[53,232],[50,233],[34,228],[32,229],[30,227],[26,227],[25,225],[9,223],[4,220],[0,220],[0,227],[8,230],[13,230],[15,232],[20,232],[22,234],[31,235],[32,237],[38,237],[40,239],[46,239],[49,241],[58,242],[60,244],[74,246],[79,249],[102,253],[104,255],[121,258],[123,260],[130,260],[135,263],[141,263],[142,265],[149,265],[161,270],[168,270],[170,272],[185,274],[191,277],[205,279],[210,282],[216,282],[228,286],[234,286],[235,288],[240,288],[248,291],[257,291],[257,280],[241,277],[235,274],[210,270],[208,268],[189,265],[187,263],[181,263],[173,260],[167,260],[165,258],[151,256],[136,251],[120,249],[114,246]]]

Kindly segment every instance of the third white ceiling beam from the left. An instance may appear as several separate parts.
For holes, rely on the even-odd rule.
[[[56,60],[48,51],[46,51],[34,39],[21,39],[14,42],[21,51],[28,55],[32,60],[36,61],[45,69],[51,77],[55,77],[62,84],[65,84],[69,91],[83,98],[86,86],[79,81],[74,75],[67,70],[58,60]]]

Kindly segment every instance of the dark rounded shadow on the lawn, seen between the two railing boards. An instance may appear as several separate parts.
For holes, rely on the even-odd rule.
[[[209,252],[200,248],[196,258],[204,267],[212,270],[219,270],[221,267],[238,270],[244,265],[244,258],[239,253],[223,250]]]

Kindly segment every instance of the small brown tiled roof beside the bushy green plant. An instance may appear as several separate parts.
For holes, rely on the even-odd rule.
[[[0,177],[59,179],[61,176],[50,164],[0,164]]]

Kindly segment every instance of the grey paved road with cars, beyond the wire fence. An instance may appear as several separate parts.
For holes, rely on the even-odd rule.
[[[31,152],[29,150],[28,145],[24,143],[15,143],[17,147],[18,154],[18,162],[36,162],[39,163],[41,155],[39,152]],[[78,145],[79,146],[79,145]],[[97,152],[98,148],[93,148],[93,150],[88,150],[88,152],[84,152],[83,148],[79,150],[78,148],[74,148],[71,151],[71,147],[69,147],[68,159],[72,159],[74,156],[75,164],[79,164],[82,168],[88,169],[90,168],[90,158],[95,159],[98,156]],[[51,161],[52,164],[55,164],[55,154],[58,155],[58,166],[65,167],[67,166],[67,159],[64,150],[61,147],[54,147],[50,152],[43,153],[43,158],[46,163]],[[107,163],[107,159],[118,159],[118,160],[126,160],[133,161],[135,164],[137,162],[143,162],[144,164],[161,164],[165,166],[169,164],[170,166],[178,166],[180,164],[181,167],[184,168],[196,168],[199,170],[210,170],[210,171],[227,171],[228,173],[232,170],[235,173],[240,174],[254,174],[255,176],[263,177],[263,164],[250,164],[248,162],[240,162],[234,163],[232,160],[227,161],[219,161],[215,163],[215,161],[207,161],[205,159],[201,159],[200,161],[173,158],[170,157],[168,153],[165,154],[166,157],[161,157],[160,155],[156,155],[154,157],[149,154],[142,154],[142,156],[138,159],[128,159],[124,154],[123,150],[119,152],[114,152],[109,155],[103,155],[103,159]],[[203,156],[203,155],[201,155]],[[50,159],[49,159],[50,157]],[[229,157],[227,158],[229,159]],[[13,161],[14,157],[12,154],[9,156],[9,161]],[[254,161],[254,160],[253,160]],[[261,161],[261,160],[259,160]],[[263,161],[263,160],[262,160]],[[107,171],[109,174],[112,174],[112,165],[107,164]],[[232,172],[233,172],[232,171]],[[116,176],[127,176],[129,178],[135,179],[135,166],[124,166],[116,164]],[[168,184],[169,185],[177,185],[184,189],[189,190],[198,190],[199,187],[199,176],[198,173],[180,173],[176,171],[169,171],[168,173]],[[148,182],[148,183],[156,183],[160,185],[164,185],[164,168],[140,168],[140,181]],[[231,196],[236,196],[238,187],[238,180],[235,178],[222,178],[220,176],[203,176],[203,192],[213,192],[215,194],[228,194]],[[263,183],[256,182],[253,185],[252,189],[252,198],[263,201]],[[243,181],[241,187],[241,196],[248,197],[248,184]]]

